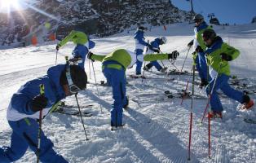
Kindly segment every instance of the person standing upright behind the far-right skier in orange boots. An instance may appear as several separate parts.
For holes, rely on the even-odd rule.
[[[194,63],[196,64],[196,69],[199,73],[199,77],[201,78],[200,87],[207,86],[208,81],[210,81],[208,68],[206,64],[206,59],[203,51],[205,51],[206,46],[201,38],[201,34],[205,31],[205,29],[211,29],[211,27],[205,23],[204,16],[201,14],[196,14],[194,16],[194,22],[196,24],[194,32],[194,39],[188,43],[188,47],[193,46],[195,51],[193,54]]]

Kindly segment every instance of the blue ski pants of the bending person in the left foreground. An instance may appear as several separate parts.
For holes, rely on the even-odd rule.
[[[38,147],[38,122],[34,119],[27,118],[29,123],[24,121],[8,121],[12,129],[11,147],[0,148],[0,163],[13,162],[24,156],[24,153],[30,148],[37,152]],[[53,150],[53,143],[46,135],[41,132],[41,147],[39,159],[47,163],[66,163],[63,156],[58,155]],[[35,161],[36,162],[36,161]]]

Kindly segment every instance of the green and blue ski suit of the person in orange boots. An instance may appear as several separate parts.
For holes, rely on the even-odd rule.
[[[213,112],[223,111],[223,106],[217,94],[218,89],[222,90],[224,95],[227,95],[229,98],[235,99],[241,104],[244,103],[244,93],[234,90],[228,84],[228,79],[230,78],[230,66],[227,61],[221,59],[220,54],[222,53],[232,56],[232,60],[236,59],[240,54],[234,47],[223,42],[221,37],[215,37],[213,44],[205,51],[210,77],[212,78],[210,84],[207,86],[208,89],[207,87],[205,89],[207,95],[210,95],[210,91],[214,85],[214,79],[217,77],[213,94],[210,97],[210,107]]]

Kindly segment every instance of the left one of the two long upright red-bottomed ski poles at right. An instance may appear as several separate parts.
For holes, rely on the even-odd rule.
[[[190,124],[189,124],[189,139],[188,139],[188,161],[190,161],[190,149],[191,149],[191,138],[192,138],[192,118],[193,118],[193,99],[194,99],[194,86],[195,86],[195,64],[192,66],[193,78],[192,78],[192,99],[190,108]]]

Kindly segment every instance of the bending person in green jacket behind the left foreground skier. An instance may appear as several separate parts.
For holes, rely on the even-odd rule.
[[[56,50],[59,51],[61,46],[64,46],[67,42],[72,41],[77,46],[72,52],[73,62],[78,63],[82,69],[85,69],[85,60],[86,55],[89,49],[92,49],[95,46],[95,42],[90,41],[89,37],[87,37],[86,33],[80,31],[80,29],[72,30],[71,33],[68,34],[58,45],[56,46]],[[82,62],[79,60],[82,59]]]

